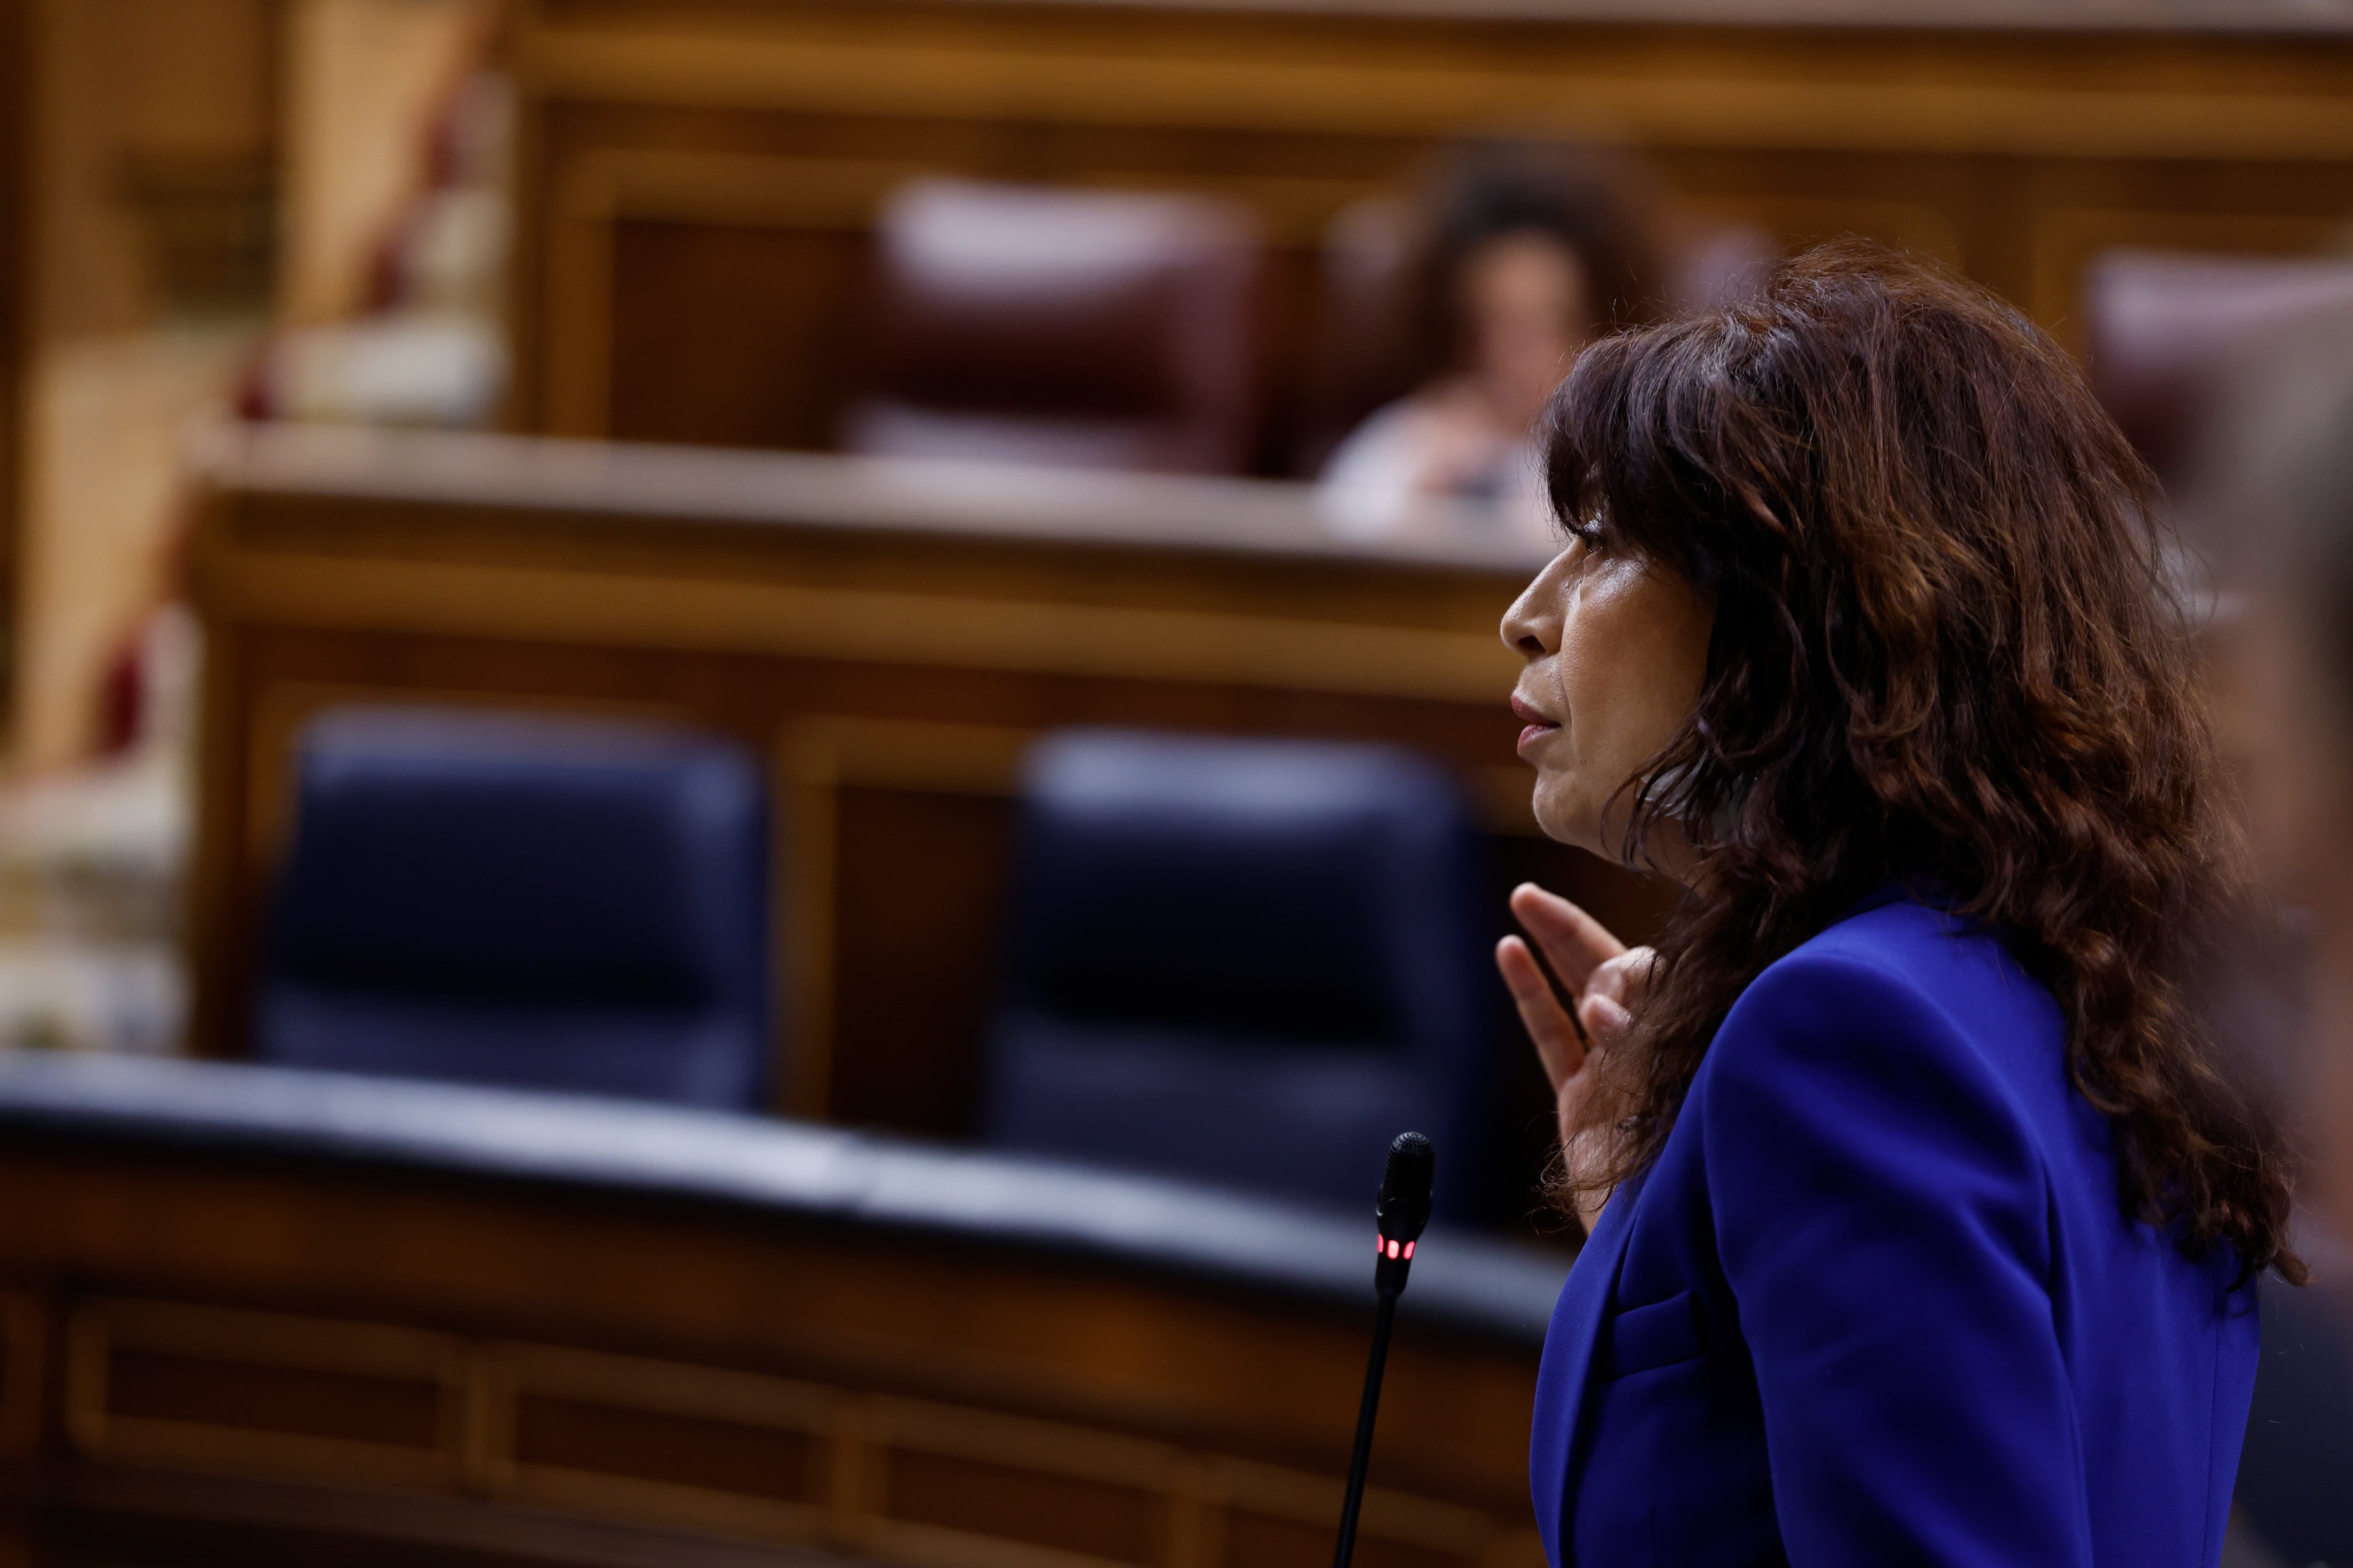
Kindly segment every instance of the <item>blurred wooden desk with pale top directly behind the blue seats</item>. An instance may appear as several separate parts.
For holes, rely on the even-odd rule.
[[[682,719],[765,755],[779,1077],[807,1117],[969,1126],[1012,790],[1049,726],[1414,745],[1487,802],[1499,919],[1518,877],[1631,931],[1661,910],[1532,837],[1494,630],[1537,564],[1518,548],[1341,545],[1287,484],[515,437],[228,430],[207,480],[191,931],[214,1056],[245,1046],[287,748],[336,701]]]

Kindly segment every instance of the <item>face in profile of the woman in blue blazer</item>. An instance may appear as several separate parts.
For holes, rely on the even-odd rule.
[[[1537,769],[1537,823],[1617,858],[1621,790],[1692,717],[1715,614],[1675,571],[1612,548],[1607,524],[1581,527],[1513,602],[1504,642],[1527,661],[1511,705]],[[1675,867],[1680,844],[1645,849]]]

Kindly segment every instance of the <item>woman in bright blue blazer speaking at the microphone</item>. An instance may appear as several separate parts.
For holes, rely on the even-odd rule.
[[[1598,341],[1546,440],[1537,816],[1692,891],[1626,952],[1520,889],[1499,950],[1598,1215],[1553,1561],[2214,1563],[2301,1265],[2179,985],[2233,846],[2148,475],[2012,308],[1859,249]]]

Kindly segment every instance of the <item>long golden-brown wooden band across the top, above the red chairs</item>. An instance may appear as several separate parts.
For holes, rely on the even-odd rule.
[[[534,5],[518,63],[581,101],[1012,125],[1649,146],[2344,158],[2341,33],[1824,28],[1240,7]]]

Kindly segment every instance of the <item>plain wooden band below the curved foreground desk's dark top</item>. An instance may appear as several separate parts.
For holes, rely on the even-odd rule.
[[[66,1204],[40,1229],[106,1281],[106,1300],[456,1335],[464,1368],[478,1366],[475,1342],[487,1335],[487,1345],[734,1366],[1172,1443],[1224,1434],[1214,1441],[1226,1453],[1318,1474],[1346,1465],[1362,1324],[1318,1309],[948,1241],[908,1246],[696,1218],[612,1194],[527,1201],[466,1185],[405,1192],[381,1178],[294,1185],[271,1171],[193,1175],[169,1161],[144,1173],[108,1173],[89,1159],[47,1173],[35,1164],[12,1157],[9,1182],[33,1182]],[[146,1204],[158,1222],[136,1222],[127,1204]],[[174,1234],[162,1220],[193,1229]],[[24,1258],[31,1248],[9,1251]],[[238,1366],[271,1366],[280,1354],[271,1335],[224,1345],[224,1356],[242,1356]],[[1398,1345],[1409,1352],[1393,1368],[1393,1413],[1412,1415],[1400,1415],[1393,1436],[1384,1425],[1379,1479],[1466,1507],[1520,1502],[1522,1352],[1407,1333],[1407,1324]],[[318,1371],[440,1387],[421,1356],[400,1371],[355,1361],[358,1352],[301,1354]],[[202,1413],[195,1399],[184,1410]],[[256,1420],[233,1399],[205,1408],[228,1425]],[[435,1432],[421,1448],[454,1462],[456,1436]]]

